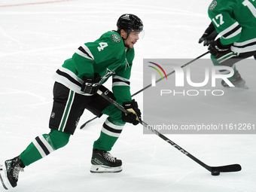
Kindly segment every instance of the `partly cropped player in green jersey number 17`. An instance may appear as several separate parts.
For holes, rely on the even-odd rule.
[[[215,66],[230,66],[234,75],[230,82],[234,87],[248,88],[236,70],[236,62],[256,55],[256,2],[254,0],[214,0],[208,14],[212,20],[199,43],[209,45]],[[217,35],[221,37],[215,41]],[[228,74],[229,71],[220,71]],[[230,86],[221,81],[224,87]]]

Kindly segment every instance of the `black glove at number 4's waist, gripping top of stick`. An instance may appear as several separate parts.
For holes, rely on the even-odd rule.
[[[81,91],[88,94],[95,94],[99,90],[100,81],[102,78],[99,73],[94,73],[93,78],[84,77],[84,84],[82,84]]]

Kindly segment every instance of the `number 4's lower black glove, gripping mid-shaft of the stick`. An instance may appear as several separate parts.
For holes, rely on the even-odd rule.
[[[130,111],[129,114],[122,112],[122,120],[123,122],[133,123],[133,125],[137,125],[139,120],[141,119],[141,111],[138,108],[138,103],[133,99],[131,102],[123,102],[123,108],[127,111]]]

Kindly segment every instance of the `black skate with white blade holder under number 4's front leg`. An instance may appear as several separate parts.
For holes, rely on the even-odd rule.
[[[92,166],[90,172],[121,172],[122,160],[117,160],[109,152],[93,148]]]

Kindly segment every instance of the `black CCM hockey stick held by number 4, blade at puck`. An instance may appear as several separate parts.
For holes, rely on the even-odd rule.
[[[122,105],[119,103],[115,102],[113,99],[108,97],[106,93],[102,93],[102,91],[98,90],[97,93],[102,96],[104,99],[106,99],[108,102],[111,104],[115,105],[117,108],[120,109],[120,111],[123,111],[124,113],[128,114],[130,113],[127,111],[125,108],[123,108]],[[238,172],[242,169],[242,167],[239,164],[232,164],[232,165],[227,165],[227,166],[208,166],[206,163],[203,163],[201,160],[197,159],[197,157],[194,157],[192,154],[188,153],[187,151],[184,150],[184,148],[181,148],[175,142],[172,142],[170,139],[168,139],[166,136],[163,136],[161,133],[159,133],[157,130],[154,130],[150,125],[145,123],[142,120],[139,120],[139,123],[141,123],[143,126],[145,126],[148,130],[151,130],[154,134],[159,136],[161,139],[164,141],[168,142],[170,145],[172,145],[174,148],[177,148],[178,151],[181,151],[181,153],[187,155],[187,157],[190,157],[190,159],[194,160],[200,166],[203,166],[205,169],[207,169],[209,172],[212,173],[212,175],[220,175],[220,172]]]

